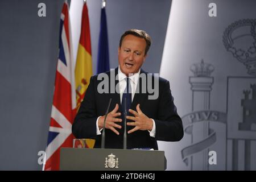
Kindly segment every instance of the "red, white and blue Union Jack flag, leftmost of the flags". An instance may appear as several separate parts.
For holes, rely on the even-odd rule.
[[[65,1],[60,18],[59,57],[43,170],[59,170],[60,148],[72,147],[74,138],[71,127],[76,114],[76,93],[69,22],[69,8]]]

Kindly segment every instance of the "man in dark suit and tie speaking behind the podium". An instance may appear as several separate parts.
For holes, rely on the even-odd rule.
[[[123,148],[125,103],[127,148],[158,150],[156,140],[178,141],[183,138],[183,126],[169,82],[141,69],[150,45],[150,36],[142,30],[131,29],[121,36],[119,67],[90,78],[84,101],[72,125],[76,138],[93,138],[96,139],[95,147],[101,146],[101,130],[110,98],[105,148]]]

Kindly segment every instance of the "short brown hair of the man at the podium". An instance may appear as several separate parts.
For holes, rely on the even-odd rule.
[[[145,49],[145,54],[147,54],[148,49],[150,48],[151,45],[151,38],[150,35],[147,34],[147,32],[143,30],[137,30],[137,29],[130,29],[125,31],[123,35],[121,36],[120,42],[119,42],[119,47],[122,46],[123,38],[125,38],[126,35],[134,35],[137,36],[138,38],[143,38],[146,41],[146,49]]]

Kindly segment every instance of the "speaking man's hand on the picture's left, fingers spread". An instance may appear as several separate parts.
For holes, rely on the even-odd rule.
[[[119,135],[118,131],[115,130],[115,127],[117,127],[118,129],[121,129],[122,126],[117,125],[115,122],[122,122],[122,119],[116,118],[121,115],[121,113],[117,113],[117,111],[118,111],[118,104],[115,104],[115,108],[106,117],[105,128],[110,129],[110,130],[114,131],[115,134]],[[105,118],[105,115],[102,115],[98,119],[98,128],[99,129],[102,129],[104,127],[104,118]]]

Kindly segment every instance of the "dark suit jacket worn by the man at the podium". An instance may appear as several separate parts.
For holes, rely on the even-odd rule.
[[[117,75],[118,68],[111,72],[114,72],[114,75]],[[141,69],[141,74],[142,73],[147,74]],[[106,72],[106,74],[109,76],[110,84],[110,71]],[[151,77],[153,81],[156,78],[154,75],[151,75]],[[133,110],[136,110],[137,104],[140,104],[142,112],[146,114],[147,117],[155,120],[155,138],[150,137],[150,133],[147,130],[134,131],[134,133],[127,134],[127,148],[154,148],[155,150],[158,150],[156,140],[178,141],[183,138],[183,126],[181,118],[176,112],[176,106],[174,105],[174,98],[171,95],[169,81],[164,78],[157,78],[159,78],[158,98],[156,100],[148,100],[148,95],[150,95],[150,93],[142,93],[143,90],[141,90],[141,92],[135,93],[131,104],[131,109]],[[95,148],[101,147],[101,135],[96,135],[96,120],[100,115],[105,115],[110,98],[112,98],[112,103],[109,111],[112,111],[115,104],[118,104],[118,112],[122,113],[119,93],[100,94],[97,92],[97,86],[101,81],[102,80],[97,80],[97,75],[90,78],[90,84],[86,90],[84,101],[82,101],[72,125],[72,133],[76,138],[96,139]],[[116,85],[118,79],[115,80],[114,83]],[[140,81],[138,85],[140,85],[139,88],[142,89],[142,81]],[[133,121],[127,120],[127,122]],[[122,125],[122,123],[117,122],[117,124],[120,125]],[[127,126],[127,131],[133,127],[134,126]],[[112,130],[105,130],[105,148],[123,148],[123,126],[122,129],[117,129],[117,131],[119,132],[119,135],[115,134]]]

